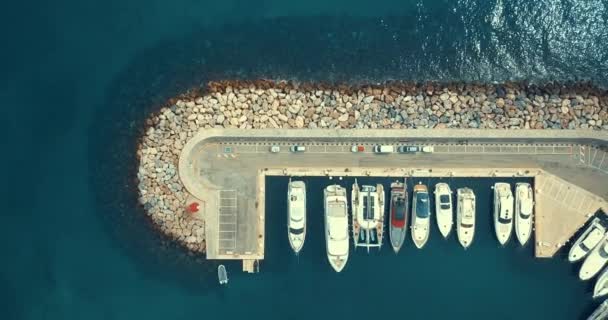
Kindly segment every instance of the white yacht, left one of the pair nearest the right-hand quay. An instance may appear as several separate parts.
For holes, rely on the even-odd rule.
[[[498,242],[504,246],[513,230],[513,193],[508,183],[494,184],[494,230]]]

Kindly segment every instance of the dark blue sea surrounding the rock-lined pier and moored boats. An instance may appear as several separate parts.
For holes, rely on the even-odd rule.
[[[360,317],[371,315],[371,309],[345,299],[359,294],[362,285],[377,283],[370,299],[383,317],[394,315],[398,305],[402,317],[405,309],[418,319],[448,314],[483,319],[493,307],[503,307],[495,318],[508,319],[515,313],[507,301],[516,294],[523,295],[518,303],[527,297],[539,301],[526,304],[524,318],[581,316],[593,303],[570,266],[495,248],[481,232],[466,254],[454,241],[441,242],[437,236],[425,250],[407,248],[398,257],[385,251],[370,257],[357,253],[339,276],[318,250],[320,237],[310,238],[298,263],[287,254],[283,236],[269,234],[263,273],[244,276],[229,266],[233,282],[219,291],[208,280],[212,264],[157,236],[142,218],[135,205],[136,162],[130,150],[146,112],[209,79],[527,80],[541,88],[551,81],[589,80],[605,86],[607,5],[524,0],[3,3],[2,319],[191,319],[216,317],[219,309],[229,310],[226,318],[303,318],[327,306],[312,302],[336,292],[341,295],[327,316],[339,311]],[[276,183],[282,188],[282,182]],[[282,214],[280,207],[268,213]],[[421,271],[425,268],[428,272]],[[441,268],[449,274],[436,292],[430,284],[437,282]],[[382,277],[354,277],[378,270]],[[462,284],[455,280],[458,270],[476,276],[466,287],[452,288]],[[500,284],[507,285],[507,295],[498,295],[495,279],[504,279]],[[298,285],[306,290],[296,293]],[[420,297],[412,298],[413,288],[422,288]],[[298,300],[288,300],[287,293]],[[456,307],[447,298],[466,304]],[[292,305],[305,311],[294,314]],[[545,314],[540,305],[555,309]]]

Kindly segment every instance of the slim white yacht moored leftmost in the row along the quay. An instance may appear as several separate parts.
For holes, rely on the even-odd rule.
[[[306,238],[306,185],[304,181],[289,181],[287,203],[289,244],[298,254],[302,250]]]

